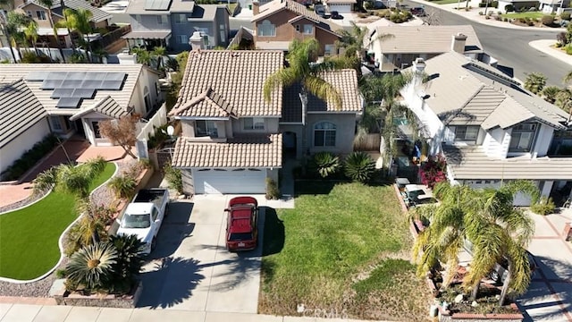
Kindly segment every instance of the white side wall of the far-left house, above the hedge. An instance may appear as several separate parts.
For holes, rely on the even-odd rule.
[[[29,150],[44,139],[50,133],[46,119],[32,125],[27,131],[21,133],[17,138],[0,148],[0,173],[19,159],[24,152]]]

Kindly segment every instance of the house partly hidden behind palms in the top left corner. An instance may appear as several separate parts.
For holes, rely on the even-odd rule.
[[[66,9],[80,10],[85,9],[91,12],[90,24],[94,29],[106,28],[109,25],[109,20],[112,18],[111,14],[91,6],[85,0],[65,0],[63,1]],[[63,21],[63,4],[59,0],[55,0],[52,5],[52,21],[56,24],[58,21]],[[50,25],[47,17],[48,9],[45,5],[41,4],[38,0],[15,0],[14,3],[16,10],[27,13],[30,18],[38,22],[38,44],[46,43],[48,47],[58,47],[55,39],[54,28]],[[71,35],[69,35],[66,28],[57,28],[57,36],[63,47],[71,47]]]

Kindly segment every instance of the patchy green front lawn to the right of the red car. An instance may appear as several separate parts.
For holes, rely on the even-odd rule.
[[[296,190],[295,209],[266,208],[260,313],[300,315],[304,303],[322,318],[325,309],[425,320],[426,287],[408,262],[412,239],[393,187],[304,182]]]

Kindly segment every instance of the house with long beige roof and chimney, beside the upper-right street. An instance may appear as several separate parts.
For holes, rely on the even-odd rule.
[[[483,46],[471,25],[377,27],[365,43],[370,62],[381,72],[401,70],[417,57],[429,59],[450,51],[475,59],[483,54]]]

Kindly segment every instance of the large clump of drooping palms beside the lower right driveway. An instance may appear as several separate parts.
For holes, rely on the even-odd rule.
[[[503,258],[509,261],[509,274],[499,305],[504,304],[509,289],[515,293],[526,292],[531,275],[526,246],[534,234],[534,222],[513,204],[517,193],[528,194],[533,203],[536,202],[539,192],[534,183],[515,181],[497,190],[474,190],[441,182],[433,192],[441,199],[441,205],[416,209],[419,215],[431,221],[413,248],[413,256],[419,264],[417,273],[424,274],[440,260],[444,261],[448,265],[443,278],[446,287],[458,267],[458,252],[468,241],[472,244],[473,260],[463,285],[472,289],[473,300],[481,279]]]

